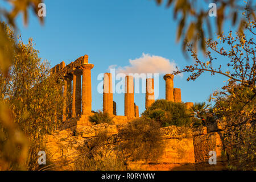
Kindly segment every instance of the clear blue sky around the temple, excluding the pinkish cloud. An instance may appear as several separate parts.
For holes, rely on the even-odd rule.
[[[100,81],[97,76],[108,72],[110,65],[124,67],[129,60],[148,53],[175,61],[179,68],[192,64],[176,43],[177,23],[172,9],[157,6],[147,0],[94,0],[52,1],[46,0],[47,16],[43,26],[31,16],[27,27],[17,19],[19,33],[24,42],[34,39],[40,57],[47,59],[52,67],[61,61],[66,64],[85,54],[89,55],[92,69],[92,109],[102,110],[102,94],[97,93]],[[208,7],[206,7],[208,8]],[[214,17],[213,17],[214,19]],[[222,61],[222,60],[219,60]],[[222,76],[205,73],[196,81],[186,81],[188,74],[175,77],[174,87],[181,88],[184,102],[202,102],[223,86]],[[159,98],[165,98],[163,75],[159,80]],[[124,94],[114,94],[117,114],[124,114]],[[139,112],[144,111],[144,94],[135,94]]]

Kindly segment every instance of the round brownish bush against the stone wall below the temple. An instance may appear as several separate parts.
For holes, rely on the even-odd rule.
[[[160,125],[153,119],[142,117],[127,123],[121,130],[121,136],[119,150],[126,161],[154,162],[162,155],[164,145]]]

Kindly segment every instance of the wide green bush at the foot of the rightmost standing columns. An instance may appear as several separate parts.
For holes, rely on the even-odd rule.
[[[155,101],[142,116],[155,119],[162,126],[184,126],[192,122],[191,113],[183,103],[175,103],[166,100]]]

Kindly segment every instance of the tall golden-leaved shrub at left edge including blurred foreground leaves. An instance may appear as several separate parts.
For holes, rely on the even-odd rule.
[[[0,71],[0,166],[38,170],[38,151],[46,148],[42,138],[61,122],[63,82],[51,75],[48,61],[40,59],[32,39],[25,44],[0,23],[3,27],[15,49],[9,76]]]

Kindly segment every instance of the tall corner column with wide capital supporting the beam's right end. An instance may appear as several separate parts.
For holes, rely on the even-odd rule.
[[[84,64],[82,69],[82,114],[92,113],[92,81],[90,70],[94,67],[93,64]]]

